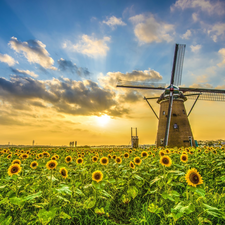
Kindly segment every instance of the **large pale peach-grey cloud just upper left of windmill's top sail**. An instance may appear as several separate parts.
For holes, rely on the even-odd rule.
[[[140,43],[170,42],[173,40],[174,26],[161,21],[156,21],[153,15],[144,16],[143,14],[130,17],[129,20],[134,24],[134,33]]]

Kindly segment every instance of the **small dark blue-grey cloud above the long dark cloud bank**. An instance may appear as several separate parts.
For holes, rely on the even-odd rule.
[[[57,62],[61,71],[70,71],[71,73],[77,74],[81,77],[87,77],[90,75],[90,72],[87,68],[77,67],[76,64],[72,63],[70,60],[61,58]]]

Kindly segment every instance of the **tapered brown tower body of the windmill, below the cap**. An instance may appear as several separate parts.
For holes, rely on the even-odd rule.
[[[160,103],[160,115],[157,132],[157,147],[164,146],[169,101]],[[168,147],[195,147],[195,141],[188,121],[183,99],[174,99],[171,114]]]

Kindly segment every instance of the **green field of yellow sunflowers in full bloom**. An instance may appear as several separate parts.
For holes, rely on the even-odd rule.
[[[0,149],[0,224],[225,224],[224,147]]]

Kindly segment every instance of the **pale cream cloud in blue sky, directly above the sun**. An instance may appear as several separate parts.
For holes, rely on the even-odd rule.
[[[77,44],[72,44],[70,41],[66,41],[63,43],[63,48],[94,58],[98,56],[106,56],[107,51],[109,51],[109,47],[107,46],[107,42],[109,41],[110,37],[107,36],[103,37],[103,39],[97,39],[84,34]]]

